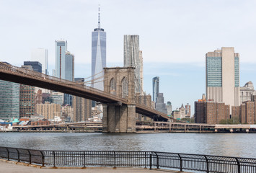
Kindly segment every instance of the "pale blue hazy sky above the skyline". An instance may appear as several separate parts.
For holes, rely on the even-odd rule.
[[[21,66],[33,48],[47,48],[55,64],[55,40],[68,40],[75,76],[91,76],[92,31],[99,1],[0,0],[1,61]],[[140,35],[144,89],[160,77],[160,92],[174,108],[193,105],[205,93],[205,55],[221,47],[240,53],[240,85],[255,81],[256,1],[104,0],[107,66],[123,66],[123,35]],[[51,74],[51,71],[50,71]]]

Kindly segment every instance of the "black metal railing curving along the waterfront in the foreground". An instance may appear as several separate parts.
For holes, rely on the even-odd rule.
[[[43,167],[144,167],[193,172],[256,173],[256,159],[155,151],[41,151],[0,147],[0,158]]]

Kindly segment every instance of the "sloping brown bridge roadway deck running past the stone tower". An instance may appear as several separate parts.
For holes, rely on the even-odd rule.
[[[136,102],[128,102],[128,99],[118,97],[114,94],[103,92],[99,89],[94,89],[84,84],[78,84],[74,81],[67,81],[53,76],[30,71],[26,68],[19,68],[3,62],[0,62],[0,79],[4,81],[12,81],[19,84],[37,86],[45,89],[50,89],[57,92],[63,92],[86,99],[92,99],[102,103],[120,103],[124,105],[136,105],[136,112],[147,117],[155,117],[158,115],[158,120],[167,121],[168,116],[162,112],[156,111],[151,107],[137,104]]]

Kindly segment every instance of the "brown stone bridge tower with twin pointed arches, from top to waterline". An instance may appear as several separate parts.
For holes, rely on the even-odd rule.
[[[104,91],[128,99],[128,104],[103,105],[102,133],[136,133],[134,71],[133,67],[104,68]]]

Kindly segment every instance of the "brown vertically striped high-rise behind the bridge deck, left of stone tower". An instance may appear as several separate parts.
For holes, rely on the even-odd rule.
[[[75,78],[76,82],[83,83],[84,78]],[[74,96],[74,122],[86,121],[92,116],[92,100]]]

